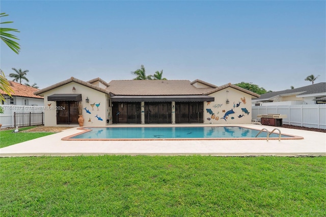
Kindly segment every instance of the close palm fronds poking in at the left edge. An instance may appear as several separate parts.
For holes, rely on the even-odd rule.
[[[6,13],[0,13],[0,18],[8,16],[8,15],[9,14],[6,14]],[[7,24],[7,23],[12,23],[12,21],[0,22],[0,26],[2,26],[3,24]],[[19,54],[20,45],[18,44],[18,42],[14,41],[14,40],[19,40],[19,39],[16,36],[12,35],[10,32],[19,33],[19,31],[16,29],[0,27],[0,38],[15,53]],[[0,69],[0,90],[3,91],[4,94],[9,95],[10,97],[11,97],[11,93],[14,92],[5,76],[5,73],[1,69]],[[0,93],[0,99],[5,101],[5,97],[3,96],[2,93]]]

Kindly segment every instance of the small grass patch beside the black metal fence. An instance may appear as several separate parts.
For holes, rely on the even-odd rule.
[[[13,129],[0,131],[0,148],[53,134],[53,132],[24,132],[33,127],[19,128],[18,133],[13,133]]]

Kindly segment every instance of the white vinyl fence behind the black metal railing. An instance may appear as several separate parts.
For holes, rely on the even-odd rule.
[[[1,105],[4,113],[0,114],[1,128],[15,126],[33,126],[44,124],[44,106]]]

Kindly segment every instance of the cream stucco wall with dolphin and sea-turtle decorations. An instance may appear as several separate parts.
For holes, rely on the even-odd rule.
[[[215,101],[205,102],[204,123],[251,123],[251,95],[229,87],[209,96]],[[227,99],[229,104],[226,104]]]

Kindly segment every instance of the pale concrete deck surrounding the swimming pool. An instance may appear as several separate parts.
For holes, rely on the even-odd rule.
[[[121,126],[121,125],[112,125]],[[127,126],[140,126],[128,124]],[[163,126],[151,124],[150,126]],[[164,124],[189,126],[189,124]],[[222,124],[191,124],[190,126],[232,126]],[[76,156],[76,155],[212,155],[212,156],[326,156],[326,133],[257,124],[236,126],[269,132],[274,128],[282,134],[303,137],[300,140],[146,140],[146,141],[63,141],[80,132],[67,129],[46,137],[18,143],[0,149],[0,157],[13,156]]]

